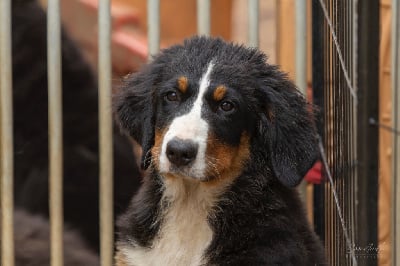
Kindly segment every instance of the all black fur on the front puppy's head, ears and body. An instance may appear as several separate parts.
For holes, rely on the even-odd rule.
[[[117,119],[142,144],[143,165],[149,166],[155,129],[187,110],[184,100],[163,106],[163,88],[173,87],[171,80],[181,75],[199,80],[211,60],[210,86],[228,86],[238,111],[221,118],[210,103],[202,115],[221,142],[237,145],[241,133],[249,134],[251,155],[221,196],[216,215],[209,217],[214,238],[204,256],[211,265],[323,264],[322,245],[291,188],[318,155],[312,114],[293,83],[263,53],[205,37],[163,50],[115,97]],[[133,239],[149,247],[156,237],[162,223],[161,179],[151,167],[119,222],[121,245]]]

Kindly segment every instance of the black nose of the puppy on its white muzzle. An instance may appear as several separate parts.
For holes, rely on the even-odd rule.
[[[197,156],[198,144],[191,140],[174,138],[167,144],[167,157],[176,166],[185,166]]]

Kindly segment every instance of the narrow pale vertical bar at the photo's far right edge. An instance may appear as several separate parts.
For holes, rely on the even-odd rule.
[[[400,5],[398,0],[392,0],[392,117],[393,128],[400,130]],[[393,176],[392,176],[392,265],[400,261],[400,137],[393,134]]]

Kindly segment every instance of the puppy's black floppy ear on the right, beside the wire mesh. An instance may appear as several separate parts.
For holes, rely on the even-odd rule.
[[[276,177],[293,187],[318,158],[317,135],[311,106],[285,74],[273,72],[260,86],[259,135]]]

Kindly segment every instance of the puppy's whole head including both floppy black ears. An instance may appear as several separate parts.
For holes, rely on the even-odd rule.
[[[261,52],[220,39],[162,51],[127,80],[114,105],[142,145],[142,167],[164,176],[235,178],[260,156],[293,186],[316,158],[313,124],[294,85]]]

